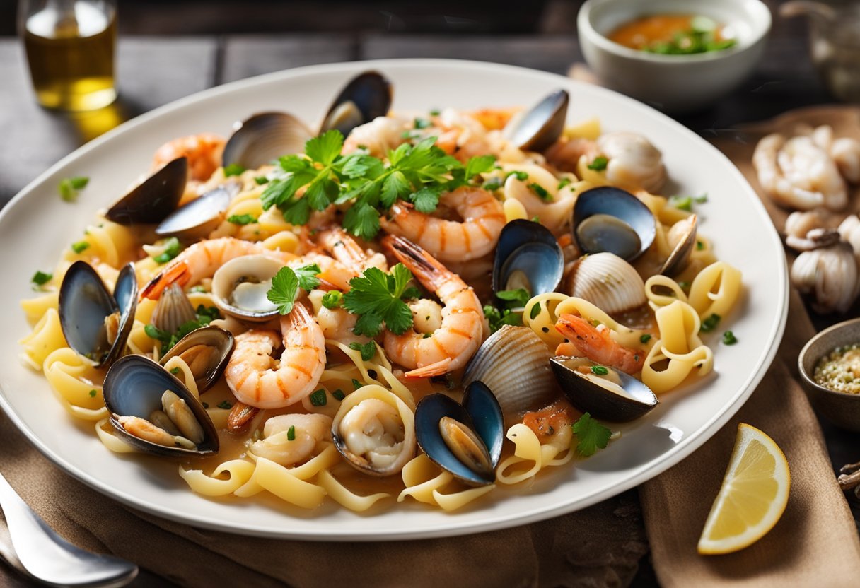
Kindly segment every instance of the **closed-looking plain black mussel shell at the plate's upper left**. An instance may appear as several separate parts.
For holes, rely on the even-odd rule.
[[[118,224],[161,223],[185,193],[188,160],[177,157],[114,203],[105,217]]]

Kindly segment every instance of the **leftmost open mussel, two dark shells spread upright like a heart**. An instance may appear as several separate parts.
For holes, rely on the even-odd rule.
[[[73,263],[59,289],[59,321],[72,349],[110,365],[126,349],[138,305],[138,281],[134,266],[122,268],[114,294],[87,262]]]

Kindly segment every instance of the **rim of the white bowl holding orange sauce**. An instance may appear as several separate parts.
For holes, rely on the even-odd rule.
[[[693,53],[691,55],[663,55],[660,53],[649,53],[640,51],[638,49],[631,49],[630,47],[625,47],[624,45],[620,45],[615,41],[609,40],[607,37],[605,37],[604,34],[599,33],[598,30],[593,27],[591,21],[592,9],[599,4],[612,2],[630,4],[638,9],[641,9],[643,15],[660,12],[659,6],[654,6],[654,3],[651,2],[646,5],[642,5],[640,8],[639,4],[635,2],[631,3],[629,2],[629,0],[587,0],[587,2],[582,4],[579,13],[576,15],[576,28],[579,31],[580,43],[583,42],[583,39],[587,39],[588,42],[590,42],[594,46],[598,46],[605,52],[613,53],[619,57],[636,59],[654,64],[701,63],[728,58],[733,55],[745,52],[750,47],[758,45],[762,40],[765,39],[767,34],[770,33],[771,26],[773,25],[773,17],[771,15],[771,10],[764,2],[762,2],[762,0],[740,0],[740,3],[748,4],[750,7],[752,7],[753,11],[758,12],[759,15],[759,18],[749,18],[740,15],[739,13],[738,19],[746,21],[748,24],[751,25],[753,34],[750,35],[749,38],[747,38],[746,40],[739,40],[735,46],[729,47],[728,49],[723,49],[722,51]],[[704,7],[705,9],[707,9],[712,5],[710,2],[706,1],[691,2],[690,4],[691,10],[699,9],[700,7]]]

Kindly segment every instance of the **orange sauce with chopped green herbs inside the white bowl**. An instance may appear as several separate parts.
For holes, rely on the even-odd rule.
[[[664,55],[722,51],[735,44],[728,28],[697,15],[641,16],[607,36],[619,45]]]

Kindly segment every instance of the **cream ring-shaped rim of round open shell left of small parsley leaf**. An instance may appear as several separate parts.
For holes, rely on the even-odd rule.
[[[249,279],[256,282],[272,279],[283,266],[280,261],[259,254],[243,255],[227,261],[212,276],[212,302],[224,313],[243,321],[265,322],[279,315],[273,304],[271,309],[245,309],[237,306],[232,297],[237,285]]]

